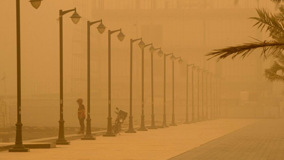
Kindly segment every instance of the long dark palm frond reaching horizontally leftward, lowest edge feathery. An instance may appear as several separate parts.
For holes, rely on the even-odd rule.
[[[232,56],[232,59],[234,59],[238,55],[244,58],[257,48],[262,48],[262,53],[260,56],[264,56],[264,58],[266,58],[273,54],[275,51],[283,49],[284,43],[276,41],[258,41],[244,43],[243,45],[213,50],[213,52],[206,54],[206,56],[212,56],[209,59],[212,59],[213,57],[218,57],[218,60],[224,59],[228,56]]]

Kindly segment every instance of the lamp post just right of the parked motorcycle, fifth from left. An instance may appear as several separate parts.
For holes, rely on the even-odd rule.
[[[144,48],[145,43],[142,41],[142,38],[139,39],[130,39],[130,114],[129,114],[129,127],[128,130],[125,131],[125,133],[136,133],[136,131],[133,129],[133,116],[132,116],[132,53],[133,53],[133,42],[136,42],[138,40],[141,40],[139,42],[139,47],[141,49]]]

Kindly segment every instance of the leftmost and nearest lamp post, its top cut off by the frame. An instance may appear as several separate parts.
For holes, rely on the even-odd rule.
[[[42,0],[30,0],[31,5],[37,9]],[[22,141],[22,120],[21,120],[21,28],[20,28],[20,0],[16,0],[16,44],[17,44],[17,123],[16,139],[13,148],[9,152],[30,152],[25,148]]]

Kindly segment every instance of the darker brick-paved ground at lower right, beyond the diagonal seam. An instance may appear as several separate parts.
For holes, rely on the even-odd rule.
[[[283,160],[284,120],[260,120],[170,160]]]

